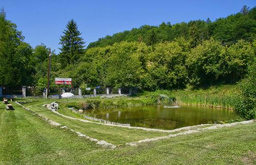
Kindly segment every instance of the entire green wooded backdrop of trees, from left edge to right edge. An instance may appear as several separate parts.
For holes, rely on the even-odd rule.
[[[32,48],[16,24],[0,13],[0,86],[46,87],[49,48]],[[215,21],[194,20],[143,25],[100,38],[84,48],[72,19],[53,53],[55,77],[73,78],[74,87],[135,87],[146,91],[233,84],[255,64],[256,8]]]

